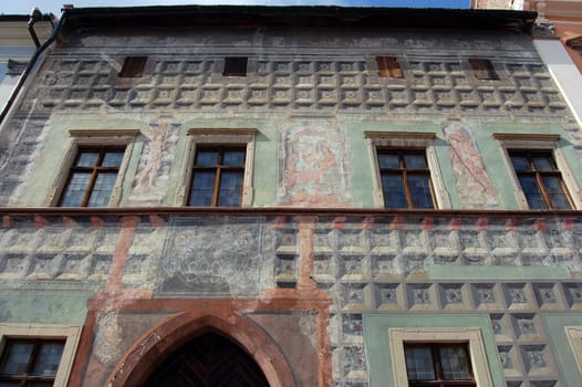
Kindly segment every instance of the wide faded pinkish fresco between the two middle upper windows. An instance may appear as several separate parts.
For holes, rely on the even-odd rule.
[[[280,202],[291,206],[345,207],[345,130],[335,122],[289,122],[281,134]]]

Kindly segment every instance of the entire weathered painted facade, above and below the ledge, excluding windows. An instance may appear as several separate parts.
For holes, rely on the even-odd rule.
[[[529,35],[178,32],[70,36],[0,135],[0,206],[25,208],[3,210],[0,321],[84,321],[71,385],[123,384],[214,328],[269,380],[363,387],[363,316],[397,313],[486,314],[496,380],[569,385],[544,318],[582,308],[578,212],[467,211],[519,208],[493,133],[558,135],[582,186],[579,127]],[[135,54],[144,76],[119,77]],[[228,55],[248,56],[247,76],[222,76]],[[375,55],[405,76],[380,77]],[[477,80],[474,56],[500,79]],[[177,208],[193,128],[258,132],[250,208]],[[31,215],[58,195],[72,129],[138,130],[119,213]],[[365,132],[434,134],[451,211],[374,208]]]

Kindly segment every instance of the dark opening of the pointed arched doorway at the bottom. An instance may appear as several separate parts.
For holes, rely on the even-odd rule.
[[[269,383],[243,349],[208,332],[178,347],[143,384],[143,387],[159,386],[269,387]]]

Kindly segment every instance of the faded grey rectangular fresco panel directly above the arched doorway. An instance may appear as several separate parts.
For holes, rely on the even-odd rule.
[[[263,263],[262,222],[259,218],[174,219],[159,263],[157,293],[258,294]]]

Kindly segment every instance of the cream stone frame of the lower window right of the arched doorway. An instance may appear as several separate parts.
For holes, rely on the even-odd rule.
[[[405,343],[467,343],[477,387],[492,387],[489,365],[479,327],[396,327],[388,330],[395,386],[408,386]]]

